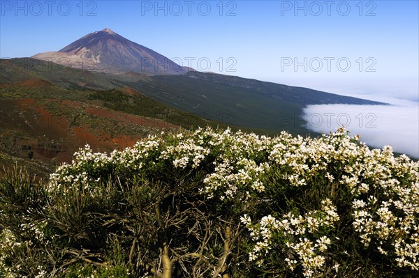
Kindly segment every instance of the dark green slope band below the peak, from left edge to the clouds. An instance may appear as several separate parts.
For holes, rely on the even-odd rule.
[[[94,90],[127,86],[169,107],[226,125],[263,130],[264,133],[270,134],[281,130],[288,130],[293,134],[307,134],[307,123],[302,115],[306,105],[383,105],[381,102],[309,88],[205,72],[154,76],[136,72],[106,75],[56,64],[52,66],[54,70],[50,70],[43,65],[45,61],[36,59],[27,59],[27,62],[30,66],[24,65],[25,59],[1,60],[1,79],[23,82],[24,79],[38,78],[64,88]]]

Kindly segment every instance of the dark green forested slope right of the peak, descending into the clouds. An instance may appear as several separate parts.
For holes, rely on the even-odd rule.
[[[228,125],[307,134],[303,108],[311,104],[383,105],[332,93],[260,82],[253,79],[189,72],[182,76],[154,76],[128,86],[166,105]],[[307,115],[305,115],[307,118]]]

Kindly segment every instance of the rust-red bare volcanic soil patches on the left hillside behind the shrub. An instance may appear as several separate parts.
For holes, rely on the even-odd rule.
[[[19,86],[29,88],[46,84],[48,83],[40,79],[30,79],[20,82]],[[9,84],[1,84],[0,86],[9,86]],[[129,93],[138,94],[130,88],[125,90]],[[87,104],[82,102],[71,100],[48,101],[54,102],[58,110],[60,107],[66,107],[66,110],[82,107],[88,114],[115,120],[118,125],[131,124],[158,129],[178,128],[177,125],[165,121],[124,114],[101,107],[88,107]],[[10,151],[20,153],[24,157],[27,156],[29,151],[33,150],[34,160],[47,163],[55,160],[58,164],[71,162],[73,153],[86,144],[89,144],[94,151],[110,151],[115,148],[121,149],[133,146],[136,141],[141,139],[140,136],[124,134],[111,137],[107,131],[94,132],[87,125],[69,128],[69,120],[66,116],[54,115],[52,110],[48,111],[45,105],[33,98],[1,100],[0,128],[0,134],[6,135],[8,130],[19,134],[15,143],[8,147]],[[23,148],[24,145],[31,146],[30,150],[27,150],[26,147]]]

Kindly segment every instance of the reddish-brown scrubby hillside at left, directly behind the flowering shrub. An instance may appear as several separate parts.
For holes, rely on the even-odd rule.
[[[27,79],[0,84],[0,103],[0,165],[25,164],[38,176],[70,162],[85,144],[111,151],[162,131],[221,126],[130,88],[94,91]]]

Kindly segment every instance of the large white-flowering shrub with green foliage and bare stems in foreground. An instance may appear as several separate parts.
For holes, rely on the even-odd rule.
[[[80,261],[113,261],[133,277],[419,275],[419,163],[343,129],[271,138],[207,128],[112,153],[86,146],[45,192],[40,231],[54,233],[34,238],[69,250],[61,275]],[[1,229],[1,245],[19,243]],[[128,255],[116,263],[103,242]]]

